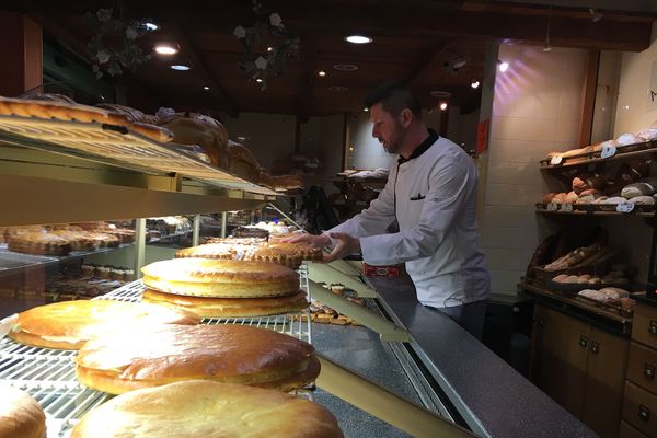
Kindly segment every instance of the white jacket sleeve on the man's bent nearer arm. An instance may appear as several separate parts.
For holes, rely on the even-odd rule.
[[[418,224],[392,234],[361,238],[362,260],[371,265],[393,265],[434,254],[475,189],[473,169],[453,161],[437,165],[430,175]],[[403,208],[401,199],[400,208]]]

